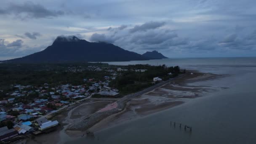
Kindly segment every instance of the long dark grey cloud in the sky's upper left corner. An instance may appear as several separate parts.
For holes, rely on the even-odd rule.
[[[25,18],[51,18],[63,15],[63,11],[51,11],[43,5],[25,2],[23,4],[11,3],[7,8],[0,9],[0,14],[14,14],[21,19]]]

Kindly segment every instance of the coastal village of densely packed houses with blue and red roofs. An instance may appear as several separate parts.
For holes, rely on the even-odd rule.
[[[119,72],[127,71],[120,67],[109,69],[106,67],[88,66],[87,70],[105,70],[111,75],[104,76],[97,81],[93,77],[84,78],[83,85],[57,85],[51,87],[43,83],[41,87],[33,85],[10,85],[13,91],[6,93],[8,97],[0,101],[0,140],[9,142],[24,137],[33,137],[41,133],[54,131],[59,125],[57,120],[48,120],[47,115],[52,115],[61,109],[71,107],[79,101],[90,99],[94,95],[118,97],[119,91],[109,87]],[[80,67],[69,67],[71,72],[83,71]],[[135,72],[145,72],[147,69],[134,69]],[[169,73],[168,75],[172,75]],[[162,81],[154,77],[152,83]],[[3,92],[3,91],[2,91]],[[28,101],[24,98],[33,98]]]

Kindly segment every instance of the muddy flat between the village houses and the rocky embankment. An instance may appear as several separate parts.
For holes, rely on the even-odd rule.
[[[61,114],[53,117],[53,120],[58,120],[59,123],[61,123],[56,131],[37,135],[35,136],[35,139],[26,139],[20,141],[19,144],[62,144],[65,140],[70,139],[72,136],[77,136],[78,134],[75,133],[75,131],[72,131],[72,133],[66,132],[68,125],[75,123],[84,117],[88,117],[88,115],[106,107],[107,104],[112,102],[113,101],[88,101],[74,109],[71,109],[70,111],[62,112]]]

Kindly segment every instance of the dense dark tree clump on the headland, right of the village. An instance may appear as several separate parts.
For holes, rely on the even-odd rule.
[[[122,71],[120,75],[117,76],[116,80],[110,83],[111,87],[120,90],[122,95],[128,93],[134,93],[141,91],[153,85],[152,81],[154,77],[160,77],[163,80],[168,80],[169,78],[179,75],[179,66],[176,67],[166,67],[162,66],[151,66],[149,64],[136,64],[128,65],[128,71]],[[147,69],[145,72],[136,72],[135,69]],[[173,73],[173,75],[168,75],[168,73]]]

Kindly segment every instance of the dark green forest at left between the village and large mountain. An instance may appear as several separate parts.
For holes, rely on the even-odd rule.
[[[77,63],[77,64],[1,64],[0,65],[0,97],[15,88],[10,85],[33,85],[36,87],[48,83],[49,87],[60,84],[81,85],[83,79],[94,78],[104,80],[109,75],[106,71],[92,71],[88,66],[107,66],[101,63]],[[76,71],[73,71],[75,69]],[[29,91],[30,89],[24,89]]]

